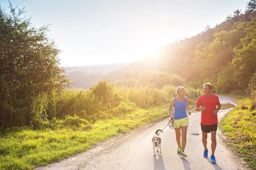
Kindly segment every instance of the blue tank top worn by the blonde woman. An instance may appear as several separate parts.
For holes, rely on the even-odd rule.
[[[178,102],[175,97],[173,119],[177,120],[177,119],[186,118],[187,117],[186,107],[187,107],[187,102],[185,97],[183,98],[183,102]]]

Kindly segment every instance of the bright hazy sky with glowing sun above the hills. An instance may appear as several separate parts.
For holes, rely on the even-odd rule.
[[[25,6],[36,27],[62,50],[61,66],[123,63],[157,54],[160,47],[192,37],[248,0],[11,0]],[[8,0],[0,0],[8,6]]]

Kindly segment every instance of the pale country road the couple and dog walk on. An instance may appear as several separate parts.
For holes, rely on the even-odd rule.
[[[235,104],[236,101],[227,96],[219,96],[221,103]],[[232,108],[231,108],[232,109]],[[218,112],[220,120],[230,109]],[[177,152],[175,131],[166,127],[162,138],[162,154],[153,156],[152,136],[156,129],[164,128],[169,119],[152,123],[131,133],[120,134],[109,140],[97,144],[93,149],[76,154],[61,162],[38,167],[36,170],[247,170],[242,159],[232,155],[226,148],[219,129],[217,130],[217,148],[215,156],[217,163],[212,164],[209,159],[210,134],[208,134],[208,158],[204,158],[200,129],[201,114],[189,116],[187,158],[181,158]],[[198,134],[198,135],[195,135]]]

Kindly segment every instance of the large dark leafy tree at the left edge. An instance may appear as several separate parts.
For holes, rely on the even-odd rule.
[[[24,8],[0,6],[0,126],[36,124],[46,119],[49,98],[68,82],[58,59],[60,50],[35,28]]]

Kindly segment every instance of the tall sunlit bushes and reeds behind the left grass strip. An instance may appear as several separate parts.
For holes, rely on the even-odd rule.
[[[49,120],[76,115],[93,123],[99,119],[129,114],[137,108],[147,109],[168,103],[176,96],[175,90],[176,86],[173,85],[163,88],[116,87],[106,81],[99,81],[88,90],[64,90],[48,106],[46,113],[51,115],[52,110],[56,113],[51,118],[49,116]],[[187,88],[186,93],[190,99],[196,99],[202,92],[200,89]]]

